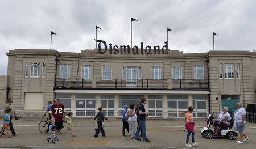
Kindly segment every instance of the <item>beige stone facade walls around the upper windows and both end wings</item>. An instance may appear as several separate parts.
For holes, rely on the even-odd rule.
[[[122,78],[123,66],[141,66],[142,78],[151,79],[152,66],[161,66],[161,78],[169,79],[168,86],[171,89],[172,67],[182,66],[183,79],[194,79],[194,66],[204,66],[204,79],[207,80],[209,59],[210,79],[210,106],[214,111],[220,110],[221,94],[239,94],[242,103],[255,102],[256,79],[256,53],[246,51],[208,52],[184,54],[178,51],[170,51],[168,55],[110,55],[96,54],[97,50],[83,50],[79,58],[78,78],[81,78],[81,66],[92,66],[92,81],[96,87],[96,79],[102,78],[102,66],[112,66],[112,78]],[[79,53],[59,52],[60,64],[57,68],[57,78],[60,77],[60,65],[70,65],[70,78],[76,78]],[[56,50],[10,50],[8,76],[10,82],[10,96],[14,99],[14,108],[24,109],[25,93],[42,93],[43,108],[47,102],[53,99],[53,87],[55,82],[55,58],[59,59]],[[46,76],[31,78],[25,76],[26,62],[46,63]],[[240,79],[220,79],[218,65],[220,63],[239,63]],[[219,100],[216,100],[218,97]]]

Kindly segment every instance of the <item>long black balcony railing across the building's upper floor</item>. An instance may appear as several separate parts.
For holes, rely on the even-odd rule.
[[[196,79],[56,79],[59,89],[141,89],[141,90],[208,90],[208,80]]]

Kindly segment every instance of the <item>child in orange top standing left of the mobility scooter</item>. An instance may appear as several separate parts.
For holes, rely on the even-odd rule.
[[[195,142],[195,131],[194,131],[195,122],[193,121],[193,110],[194,110],[194,108],[192,106],[189,106],[188,113],[186,113],[186,115],[185,115],[186,129],[188,131],[186,147],[192,147],[192,146],[198,145],[198,143]],[[192,133],[192,142],[193,142],[192,146],[191,146],[191,144],[188,144],[188,140],[189,140],[191,133]]]

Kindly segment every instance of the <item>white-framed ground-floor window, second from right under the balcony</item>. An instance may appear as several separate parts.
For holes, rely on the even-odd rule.
[[[188,96],[168,95],[167,96],[168,117],[185,117],[188,108]]]

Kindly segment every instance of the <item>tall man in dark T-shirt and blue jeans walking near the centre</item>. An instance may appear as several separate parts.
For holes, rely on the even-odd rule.
[[[139,139],[139,131],[142,130],[143,141],[151,142],[146,135],[146,114],[148,114],[148,112],[146,112],[144,104],[147,104],[147,99],[143,97],[141,99],[141,106],[139,106],[139,127],[135,133],[134,141],[141,141],[141,139]]]

